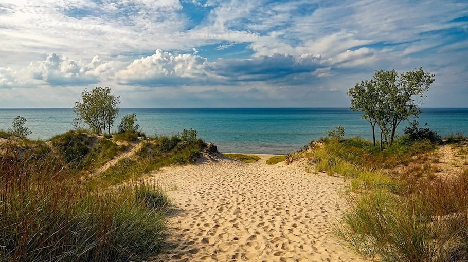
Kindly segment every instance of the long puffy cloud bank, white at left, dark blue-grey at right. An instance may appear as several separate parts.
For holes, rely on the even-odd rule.
[[[286,76],[312,73],[322,65],[321,55],[311,53],[299,56],[272,54],[249,59],[218,59],[192,54],[177,54],[156,50],[155,54],[134,60],[127,68],[116,73],[116,79],[129,85],[196,85],[235,82],[269,82]],[[289,84],[298,84],[288,79]],[[302,81],[300,82],[302,83]]]

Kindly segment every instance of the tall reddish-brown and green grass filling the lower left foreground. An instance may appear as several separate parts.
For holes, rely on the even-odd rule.
[[[170,203],[159,185],[91,190],[53,152],[3,149],[0,260],[145,260],[164,248]]]

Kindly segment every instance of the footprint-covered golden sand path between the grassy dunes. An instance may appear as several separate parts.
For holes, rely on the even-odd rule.
[[[169,167],[176,213],[170,248],[158,261],[363,260],[331,233],[346,201],[342,178],[305,173],[305,164],[227,159]],[[173,187],[176,186],[176,189]]]

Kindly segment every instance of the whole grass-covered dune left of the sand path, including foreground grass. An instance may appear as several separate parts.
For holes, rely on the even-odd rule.
[[[135,261],[161,252],[171,203],[161,186],[137,178],[191,163],[206,145],[178,135],[144,143],[89,181],[83,174],[127,145],[81,131],[0,145],[0,260]]]

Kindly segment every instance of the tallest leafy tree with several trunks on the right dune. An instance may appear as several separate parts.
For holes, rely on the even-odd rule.
[[[362,111],[372,127],[375,146],[375,125],[379,126],[381,149],[383,138],[393,143],[397,127],[410,116],[418,117],[419,106],[426,98],[434,74],[422,68],[398,74],[397,71],[375,71],[372,80],[365,80],[350,88],[351,110]],[[418,99],[418,100],[416,100]]]

